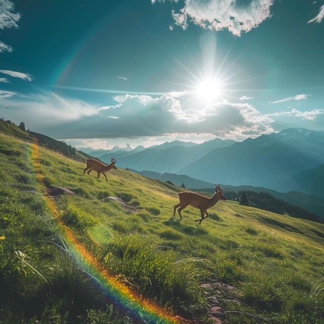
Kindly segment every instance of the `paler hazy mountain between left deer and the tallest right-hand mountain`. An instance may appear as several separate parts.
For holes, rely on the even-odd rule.
[[[149,147],[141,152],[119,156],[118,165],[121,168],[135,170],[151,170],[159,173],[176,173],[188,163],[199,159],[215,148],[227,147],[235,143],[232,140],[215,139],[202,144],[191,145],[186,142],[173,141],[155,147]],[[178,146],[176,144],[179,144]],[[109,156],[105,156],[107,159]],[[104,159],[104,157],[101,157]],[[110,158],[110,157],[109,157]]]

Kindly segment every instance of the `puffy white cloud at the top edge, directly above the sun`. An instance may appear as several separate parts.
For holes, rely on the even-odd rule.
[[[165,3],[165,0],[152,0]],[[178,0],[170,0],[178,3]],[[271,6],[274,0],[251,0],[243,3],[238,0],[183,0],[184,7],[173,10],[175,24],[184,30],[188,21],[205,29],[228,29],[236,36],[258,27],[264,20],[271,17]]]

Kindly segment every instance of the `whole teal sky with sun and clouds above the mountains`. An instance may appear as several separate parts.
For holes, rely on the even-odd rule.
[[[94,149],[324,131],[323,35],[324,0],[0,0],[0,117]]]

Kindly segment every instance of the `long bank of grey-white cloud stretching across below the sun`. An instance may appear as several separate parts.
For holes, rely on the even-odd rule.
[[[321,109],[264,114],[250,103],[225,99],[198,106],[190,92],[155,97],[118,95],[113,97],[115,104],[103,107],[55,93],[12,99],[9,97],[14,93],[3,95],[7,97],[2,102],[11,107],[8,117],[24,120],[36,132],[62,139],[209,134],[240,140],[273,132],[273,124],[286,116],[315,123],[316,117],[323,114]]]

